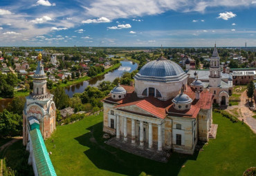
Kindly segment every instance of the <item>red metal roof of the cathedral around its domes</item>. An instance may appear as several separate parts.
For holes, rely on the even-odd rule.
[[[110,104],[116,104],[114,108],[122,110],[125,106],[137,106],[148,113],[151,113],[155,117],[165,119],[167,115],[172,115],[175,117],[188,117],[196,118],[200,109],[210,109],[212,106],[212,94],[210,92],[201,92],[200,99],[195,99],[195,92],[186,86],[185,94],[187,94],[192,101],[191,108],[189,110],[176,110],[173,107],[172,99],[167,101],[161,101],[155,97],[144,97],[138,98],[134,92],[133,86],[122,86],[127,90],[127,96],[124,99],[112,99],[111,97],[106,97],[102,101]],[[138,112],[134,112],[135,114]]]

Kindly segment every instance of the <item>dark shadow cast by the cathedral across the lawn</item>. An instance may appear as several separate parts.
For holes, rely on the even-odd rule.
[[[195,150],[194,155],[172,153],[169,162],[164,164],[104,144],[106,139],[102,138],[102,122],[87,130],[90,132],[75,138],[80,144],[90,148],[84,151],[84,154],[98,168],[114,173],[140,175],[145,172],[148,175],[178,175],[185,162],[196,160],[199,154],[199,150]]]

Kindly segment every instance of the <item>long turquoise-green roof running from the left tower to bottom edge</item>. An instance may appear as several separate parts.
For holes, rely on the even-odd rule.
[[[30,130],[30,138],[38,175],[56,175],[40,130],[37,128]]]

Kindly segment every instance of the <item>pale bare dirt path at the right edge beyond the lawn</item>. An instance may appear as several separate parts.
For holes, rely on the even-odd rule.
[[[230,113],[230,110],[234,109],[234,108],[238,108],[238,114],[239,120],[244,119],[244,123],[246,123],[248,126],[250,126],[250,129],[253,130],[254,133],[256,133],[256,119],[253,118],[253,115],[255,115],[255,113],[253,113],[248,107],[248,101],[246,101],[248,99],[247,95],[246,95],[246,90],[244,92],[241,93],[241,97],[240,97],[241,101],[239,102],[238,106],[228,106],[227,108],[227,112]],[[232,113],[230,113],[232,114]]]

